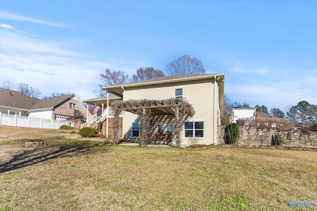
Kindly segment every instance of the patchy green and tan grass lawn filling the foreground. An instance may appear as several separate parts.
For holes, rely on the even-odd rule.
[[[289,200],[317,201],[317,152],[97,145],[67,133],[38,147],[0,139],[0,210],[284,211]]]

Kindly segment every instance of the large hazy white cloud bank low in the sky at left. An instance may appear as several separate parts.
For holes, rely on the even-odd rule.
[[[141,64],[116,58],[96,61],[88,53],[71,50],[80,48],[77,40],[44,41],[5,29],[0,36],[0,80],[26,83],[48,96],[70,91],[82,100],[94,98],[106,68],[130,74],[136,70],[130,67]]]

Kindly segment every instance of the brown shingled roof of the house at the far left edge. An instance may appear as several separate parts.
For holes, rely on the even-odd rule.
[[[0,106],[29,110],[39,101],[38,98],[24,96],[18,91],[0,88]]]

